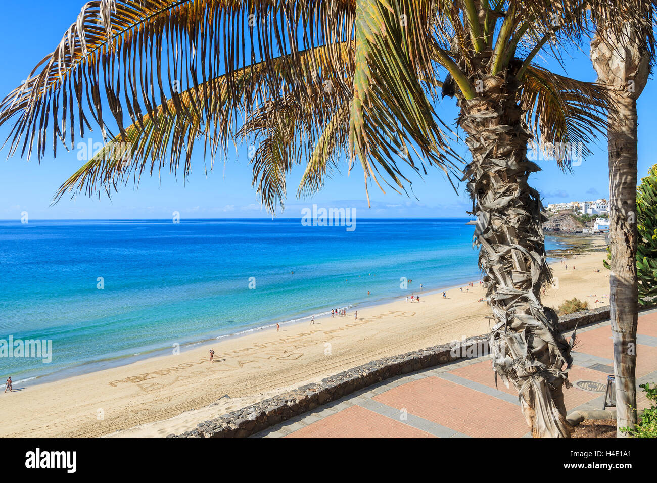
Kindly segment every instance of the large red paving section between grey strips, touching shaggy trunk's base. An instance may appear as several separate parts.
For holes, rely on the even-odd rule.
[[[374,400],[476,438],[519,438],[529,431],[520,407],[438,377],[407,382]]]

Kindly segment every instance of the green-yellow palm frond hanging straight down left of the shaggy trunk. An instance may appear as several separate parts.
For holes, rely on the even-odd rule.
[[[430,165],[456,167],[461,161],[438,126],[439,118],[420,81],[435,77],[428,60],[435,52],[433,5],[432,1],[356,1],[350,150],[380,189],[377,174],[382,173],[382,182],[397,192],[410,184],[396,159],[403,153],[401,158],[418,170],[413,156],[405,155],[413,144]]]

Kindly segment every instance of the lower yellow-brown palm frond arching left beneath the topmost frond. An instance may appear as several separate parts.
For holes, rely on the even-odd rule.
[[[346,43],[340,47],[342,60],[346,63],[350,57],[348,47]],[[306,112],[304,132],[309,135],[315,126],[323,125],[327,115],[325,105],[329,101],[339,103],[348,99],[342,91],[334,89],[334,86],[345,82],[343,77],[348,74],[330,71],[329,53],[325,47],[300,52],[297,62],[302,75],[294,79],[294,85],[283,86],[286,92],[284,97],[273,95],[262,104],[234,106],[239,116],[225,115],[226,106],[231,105],[236,93],[250,91],[252,85],[264,82],[262,78],[284,76],[289,62],[286,57],[289,55],[258,62],[236,70],[230,77],[219,76],[171,97],[166,103],[145,114],[139,122],[128,126],[123,134],[110,139],[62,184],[55,194],[55,201],[66,192],[93,195],[102,190],[109,196],[119,186],[127,184],[131,175],[137,186],[144,172],[150,175],[160,173],[167,166],[169,172],[176,173],[182,164],[184,178],[191,169],[191,155],[198,139],[204,141],[204,155],[209,152],[214,160],[217,147],[226,146],[236,139],[244,139],[248,133],[267,132],[269,135],[273,131],[280,131],[279,118],[269,114],[277,112],[277,109],[272,108],[273,105],[290,105],[290,99],[296,101],[296,85],[302,85],[313,99],[312,103],[296,101],[296,106],[304,106],[304,109],[295,108],[299,113]],[[318,78],[313,65],[322,73],[321,84],[313,81]],[[327,89],[327,85],[331,88]],[[270,145],[272,142],[267,141]]]

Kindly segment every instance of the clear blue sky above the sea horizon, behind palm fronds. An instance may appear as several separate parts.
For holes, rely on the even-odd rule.
[[[74,22],[83,0],[32,0],[5,2],[0,19],[0,97],[4,97],[21,81],[47,53],[53,51],[64,30]],[[588,57],[588,47],[574,52],[564,62],[566,74],[579,80],[595,81],[595,71]],[[564,73],[556,62],[547,64],[556,72]],[[657,105],[655,84],[649,81],[639,99],[639,177],[654,164],[653,134],[657,119],[650,109]],[[446,122],[457,117],[455,100],[445,98],[438,106]],[[462,133],[462,131],[461,131]],[[92,135],[98,135],[95,129]],[[7,137],[7,127],[0,129],[0,139]],[[89,136],[87,136],[89,137]],[[78,143],[78,140],[76,140]],[[464,156],[467,150],[459,147]],[[543,196],[545,204],[571,200],[595,199],[608,196],[606,139],[593,147],[594,155],[573,173],[562,173],[554,162],[541,162],[543,171],[530,178]],[[210,159],[207,160],[210,162]],[[108,200],[106,196],[75,200],[62,198],[51,206],[58,187],[79,168],[76,151],[58,149],[57,158],[46,154],[41,164],[33,158],[29,162],[20,156],[7,159],[7,148],[0,151],[0,219],[20,219],[28,212],[30,219],[89,219],[89,218],[170,218],[174,211],[181,218],[271,218],[260,207],[256,189],[251,187],[251,169],[246,147],[223,162],[215,160],[214,170],[204,173],[200,152],[193,156],[192,173],[183,183],[173,175],[143,179],[135,191],[131,185],[121,189]],[[334,173],[323,191],[312,198],[298,200],[294,196],[302,167],[295,168],[288,179],[290,195],[281,217],[300,217],[301,209],[317,203],[320,206],[355,208],[359,217],[451,217],[466,216],[471,202],[464,193],[463,183],[455,193],[442,172],[411,177],[415,196],[397,195],[386,190],[381,193],[370,187],[372,207],[367,208],[363,172],[359,166],[347,176],[346,168]],[[417,199],[416,199],[417,198]]]

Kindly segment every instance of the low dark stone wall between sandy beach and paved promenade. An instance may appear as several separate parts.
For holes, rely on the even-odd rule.
[[[564,331],[609,318],[609,307],[585,310],[559,317]],[[205,421],[196,429],[167,438],[246,438],[269,426],[311,411],[319,405],[337,400],[376,382],[427,367],[487,354],[489,334],[468,338],[461,344],[443,344],[384,357],[348,371],[327,377],[321,383],[307,384],[291,392],[279,394],[242,409]]]

